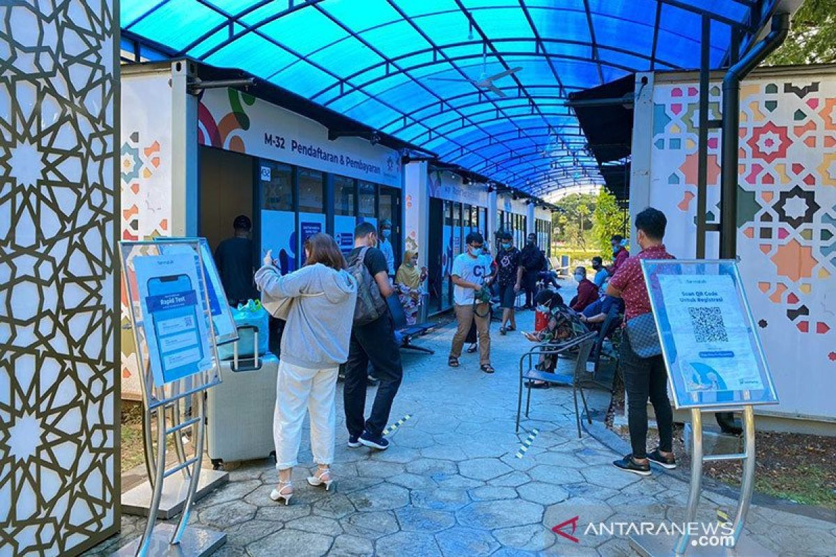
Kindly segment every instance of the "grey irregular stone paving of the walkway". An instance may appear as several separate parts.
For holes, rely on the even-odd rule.
[[[533,316],[523,314],[523,328]],[[227,533],[221,556],[252,555],[621,555],[633,554],[624,536],[584,535],[594,521],[681,520],[687,484],[668,474],[650,478],[615,470],[620,456],[574,428],[571,391],[533,393],[539,434],[523,458],[515,454],[527,432],[514,433],[517,358],[528,342],[493,330],[497,373],[479,372],[477,355],[446,367],[451,327],[416,341],[434,356],[404,352],[405,380],[391,422],[410,414],[383,453],[349,449],[338,425],[336,491],[314,489],[298,468],[288,507],[268,498],[276,473],[267,461],[246,463],[230,483],[196,504],[192,519]],[[338,416],[342,414],[341,384]],[[370,389],[371,393],[372,389]],[[605,406],[599,395],[599,409]],[[307,441],[301,462],[310,462]],[[706,494],[699,519],[716,522],[716,509],[734,502]],[[579,516],[579,543],[551,528]],[[120,536],[90,554],[109,554],[140,533],[143,520],[125,516]],[[836,519],[823,522],[752,507],[749,534],[778,554],[836,554]]]

